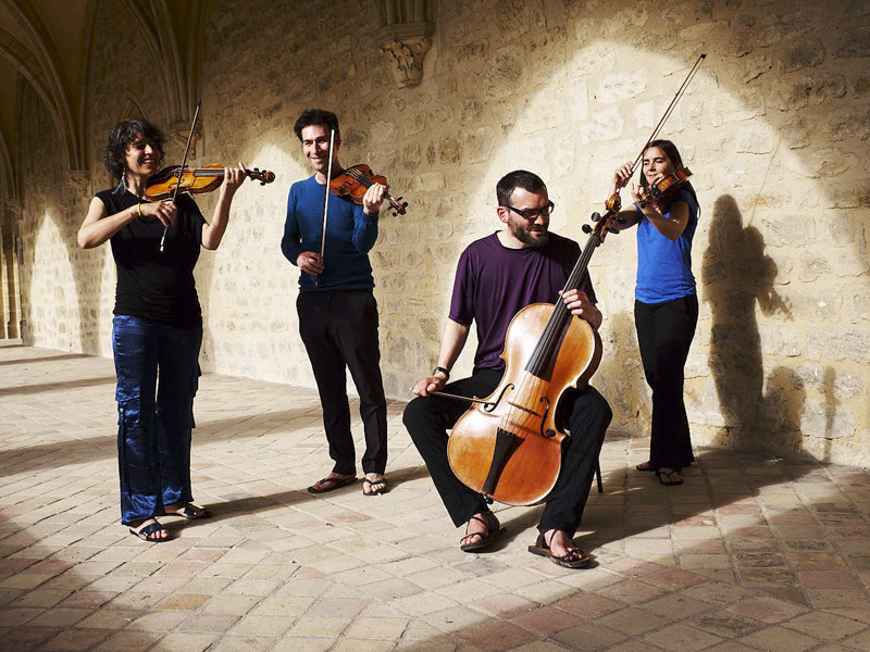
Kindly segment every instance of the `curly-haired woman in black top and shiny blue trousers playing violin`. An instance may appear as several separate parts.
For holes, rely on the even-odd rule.
[[[160,542],[158,516],[206,518],[192,503],[190,430],[199,377],[202,314],[194,281],[200,247],[217,249],[245,167],[227,168],[211,223],[186,195],[145,200],[163,159],[163,134],[127,120],[109,135],[105,167],[120,179],[98,192],[78,229],[83,249],[111,241],[117,266],[112,349],[119,409],[121,522]],[[161,239],[166,234],[161,250]],[[159,378],[159,380],[158,380]]]

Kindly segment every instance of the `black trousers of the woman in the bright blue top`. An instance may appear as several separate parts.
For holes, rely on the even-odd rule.
[[[654,468],[680,471],[695,461],[683,377],[698,324],[698,297],[689,294],[664,303],[635,301],[634,323],[646,381],[652,389],[649,462]]]

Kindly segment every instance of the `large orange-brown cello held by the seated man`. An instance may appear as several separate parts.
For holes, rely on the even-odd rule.
[[[698,58],[634,165],[705,57]],[[604,215],[593,213],[595,226],[583,226],[589,238],[562,293],[580,287],[595,249],[609,233],[619,233],[614,222],[620,223],[620,208],[617,189],[605,202]],[[588,385],[601,348],[597,330],[563,302],[535,303],[517,313],[505,337],[505,375],[488,398],[465,399],[472,405],[448,439],[447,459],[456,477],[488,502],[530,505],[545,500],[559,478],[561,443],[568,436],[557,424],[559,402],[569,389]]]

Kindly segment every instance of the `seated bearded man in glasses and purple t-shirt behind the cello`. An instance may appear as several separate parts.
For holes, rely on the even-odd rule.
[[[548,230],[554,203],[549,201],[544,181],[530,172],[511,172],[498,181],[496,195],[499,204],[496,211],[507,228],[472,242],[462,253],[437,366],[431,376],[422,378],[413,387],[413,392],[419,398],[408,404],[403,415],[408,432],[423,456],[453,524],[457,527],[467,524],[465,536],[460,544],[460,549],[464,552],[486,548],[505,532],[505,528],[489,510],[484,496],[500,500],[499,491],[494,489],[492,478],[487,477],[487,481],[490,482],[487,491],[472,489],[467,486],[467,481],[458,477],[462,474],[456,468],[452,451],[448,460],[448,448],[457,439],[459,429],[459,426],[455,428],[455,425],[465,412],[468,402],[452,400],[446,394],[449,392],[459,398],[493,394],[488,401],[494,403],[487,403],[488,405],[496,403],[500,408],[509,405],[508,411],[522,410],[529,414],[539,410],[538,405],[545,403],[549,405],[548,399],[535,394],[534,402],[530,400],[531,409],[517,408],[522,397],[520,387],[526,384],[525,380],[509,383],[501,390],[494,391],[500,381],[511,380],[509,376],[512,373],[511,365],[514,364],[512,358],[518,358],[511,353],[511,350],[518,349],[512,339],[517,321],[511,325],[511,319],[522,309],[535,303],[562,302],[563,306],[548,308],[554,313],[561,309],[570,327],[577,325],[572,326],[573,322],[579,322],[576,317],[588,323],[591,327],[585,324],[583,327],[598,342],[597,353],[600,354],[600,340],[596,329],[601,324],[601,313],[595,306],[592,283],[585,271],[582,272],[582,276],[576,273],[580,268],[579,263],[575,265],[581,253],[579,244]],[[572,277],[580,279],[576,289],[568,289],[560,299],[560,291],[567,287],[567,281]],[[474,372],[469,378],[448,385],[450,368],[465,344],[472,322],[476,322],[478,340]],[[519,335],[522,337],[523,334]],[[534,346],[534,342],[532,344]],[[572,355],[566,347],[558,349],[559,346],[557,342],[554,355],[559,358]],[[521,360],[517,361],[517,364],[522,365],[525,362]],[[551,369],[554,364],[561,362],[551,360],[548,368]],[[572,377],[571,385],[574,379]],[[561,392],[561,397],[555,398],[552,413],[549,413],[549,408],[540,410],[548,413],[549,418],[556,419],[555,428],[547,428],[546,434],[544,426],[540,426],[542,436],[537,437],[547,440],[550,449],[555,444],[556,463],[551,473],[552,481],[544,488],[539,497],[546,500],[546,507],[538,525],[539,534],[535,544],[529,547],[530,552],[547,556],[554,563],[568,568],[582,568],[589,564],[589,557],[574,546],[572,538],[580,524],[605,431],[612,417],[604,397],[594,388],[583,383],[580,385],[583,389],[568,387]],[[489,409],[483,408],[483,411],[488,412]],[[472,410],[469,410],[469,413],[471,412]],[[506,418],[498,423],[506,423]],[[453,432],[448,439],[449,428],[453,428]],[[561,447],[555,438],[557,428],[570,431],[570,437],[561,439]],[[498,436],[501,438],[502,427],[498,430]],[[511,437],[513,435],[509,436]],[[511,441],[513,443],[507,447],[509,452],[504,455],[509,462],[513,461],[512,457],[518,449],[525,447],[524,440],[519,446],[515,439]],[[511,446],[514,447],[512,450]],[[489,451],[489,457],[494,459],[493,447],[485,448]],[[498,449],[499,444],[496,443],[495,448]],[[559,453],[561,453],[561,464]],[[489,472],[489,476],[499,476],[496,480],[499,488],[505,482],[505,472],[509,466],[508,462],[500,466],[493,463],[493,467],[501,468],[500,472]],[[531,475],[535,475],[537,472],[535,460],[532,460],[531,468]],[[525,480],[521,484],[525,484]],[[527,502],[509,500],[502,502],[531,504],[539,499]]]

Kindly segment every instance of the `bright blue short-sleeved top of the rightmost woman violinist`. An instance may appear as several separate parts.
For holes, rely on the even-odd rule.
[[[676,191],[671,205],[679,201],[688,204],[688,224],[676,240],[662,236],[646,217],[637,225],[637,285],[634,298],[644,303],[663,303],[695,293],[692,238],[698,226],[698,204],[685,189]],[[670,206],[662,214],[670,218]]]

